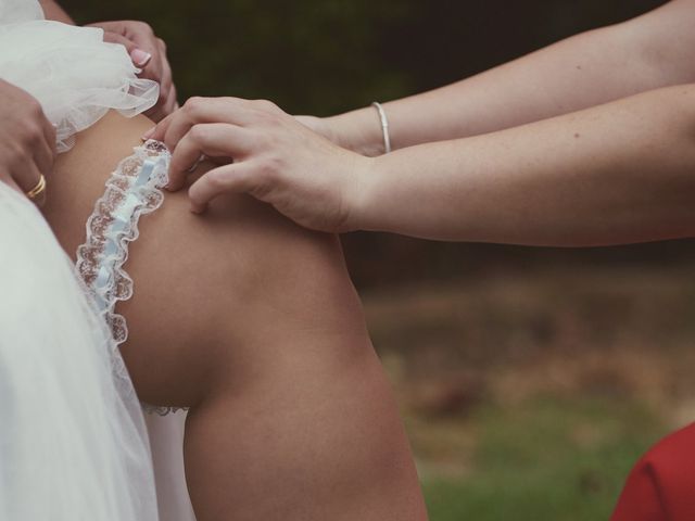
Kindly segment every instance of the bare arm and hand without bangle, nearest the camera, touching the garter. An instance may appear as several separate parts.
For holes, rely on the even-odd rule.
[[[320,230],[564,246],[695,233],[695,86],[377,158],[242,100],[195,100],[155,135],[176,145],[173,188],[200,153],[235,158],[191,187],[198,211],[248,192]]]

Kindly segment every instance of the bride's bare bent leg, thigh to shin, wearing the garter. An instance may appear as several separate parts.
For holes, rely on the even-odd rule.
[[[110,115],[61,156],[45,215],[74,255],[147,118]],[[201,165],[204,171],[208,166]],[[199,521],[424,520],[412,454],[333,236],[229,195],[185,194],[140,221],[122,353],[140,397],[190,407]]]

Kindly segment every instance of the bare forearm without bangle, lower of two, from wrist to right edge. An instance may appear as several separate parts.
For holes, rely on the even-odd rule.
[[[584,246],[695,234],[695,87],[371,161],[357,227]]]

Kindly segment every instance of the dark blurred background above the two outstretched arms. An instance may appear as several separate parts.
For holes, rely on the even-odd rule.
[[[65,0],[139,18],[168,43],[180,98],[270,98],[330,114],[456,80],[661,0]]]

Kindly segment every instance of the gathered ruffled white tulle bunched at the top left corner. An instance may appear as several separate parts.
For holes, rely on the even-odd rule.
[[[7,16],[0,18],[0,78],[41,103],[55,126],[59,152],[110,110],[134,116],[156,103],[159,85],[138,78],[126,49],[104,43],[103,30],[26,20],[37,14],[34,1],[0,4]]]

